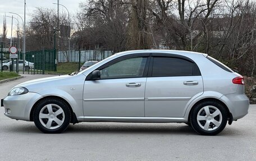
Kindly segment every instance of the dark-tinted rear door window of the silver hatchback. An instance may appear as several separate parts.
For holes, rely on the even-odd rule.
[[[198,66],[191,61],[175,57],[154,57],[152,76],[199,76]]]

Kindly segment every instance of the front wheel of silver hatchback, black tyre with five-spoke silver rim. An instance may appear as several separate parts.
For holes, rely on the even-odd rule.
[[[40,131],[57,134],[66,130],[71,114],[68,105],[61,99],[47,98],[36,104],[33,119]]]

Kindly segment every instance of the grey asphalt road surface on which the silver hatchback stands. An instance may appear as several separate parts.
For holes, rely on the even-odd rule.
[[[49,75],[24,75],[12,86]],[[256,160],[256,105],[217,136],[200,136],[184,123],[78,123],[63,134],[42,134],[0,108],[0,160]]]

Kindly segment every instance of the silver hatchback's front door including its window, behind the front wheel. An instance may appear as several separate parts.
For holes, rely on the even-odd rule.
[[[99,80],[84,83],[85,116],[144,117],[149,54],[125,56],[97,68]],[[89,77],[90,75],[88,75]]]

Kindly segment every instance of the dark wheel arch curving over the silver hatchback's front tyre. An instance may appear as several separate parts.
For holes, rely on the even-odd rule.
[[[43,97],[43,98],[41,98],[41,99],[39,99],[39,100],[37,100],[36,102],[35,102],[35,104],[33,105],[33,107],[31,108],[31,110],[30,110],[30,115],[29,115],[29,119],[30,119],[30,121],[34,121],[33,120],[33,113],[34,113],[34,110],[35,110],[35,107],[36,107],[36,105],[38,105],[38,103],[40,102],[40,101],[42,101],[42,100],[44,100],[44,99],[47,99],[47,98],[55,98],[55,99],[60,99],[60,100],[62,100],[63,102],[65,102],[66,104],[67,104],[67,106],[68,106],[68,108],[70,109],[70,114],[71,114],[71,123],[78,123],[78,121],[77,121],[77,117],[76,117],[76,114],[74,113],[74,111],[73,111],[73,109],[72,109],[72,107],[71,107],[71,105],[67,102],[67,100],[65,100],[65,99],[63,99],[63,98],[61,98],[60,96],[55,96],[55,95],[51,95],[51,96],[45,96],[45,97]]]

